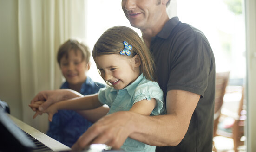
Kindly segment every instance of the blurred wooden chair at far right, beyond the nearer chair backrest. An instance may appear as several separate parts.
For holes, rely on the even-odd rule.
[[[224,136],[232,138],[234,141],[234,151],[238,152],[238,146],[244,145],[241,137],[244,135],[244,125],[246,120],[246,110],[244,108],[244,87],[243,86],[228,86],[226,95],[237,95],[239,104],[235,111],[230,111],[222,108],[221,119],[219,125],[215,129],[215,136]],[[240,95],[240,96],[239,96]],[[225,125],[225,120],[229,120],[229,124]],[[230,121],[233,120],[233,121]],[[228,127],[225,127],[228,126]]]

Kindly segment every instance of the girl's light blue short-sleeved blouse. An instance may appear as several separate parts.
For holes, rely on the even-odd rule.
[[[98,94],[99,101],[109,106],[108,114],[129,111],[134,103],[152,98],[156,99],[157,105],[151,115],[165,114],[163,91],[157,82],[147,80],[143,74],[124,89],[117,90],[108,86],[100,89]],[[155,152],[156,146],[150,146],[128,137],[121,148],[126,152]]]

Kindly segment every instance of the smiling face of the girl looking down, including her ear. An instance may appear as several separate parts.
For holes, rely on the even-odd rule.
[[[94,58],[101,77],[117,89],[124,89],[140,75],[140,60],[120,54],[107,54]]]

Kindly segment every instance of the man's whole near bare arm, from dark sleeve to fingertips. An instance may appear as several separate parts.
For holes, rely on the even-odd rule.
[[[129,111],[107,115],[80,136],[72,148],[102,143],[118,149],[127,137],[152,146],[176,146],[187,132],[199,99],[200,95],[188,91],[168,91],[166,115],[145,116]]]

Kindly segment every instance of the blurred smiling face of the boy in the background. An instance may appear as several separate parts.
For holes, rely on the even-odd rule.
[[[86,80],[86,72],[89,70],[89,64],[85,60],[82,60],[82,53],[80,51],[69,51],[68,58],[63,56],[60,59],[59,66],[69,84],[81,84]]]

